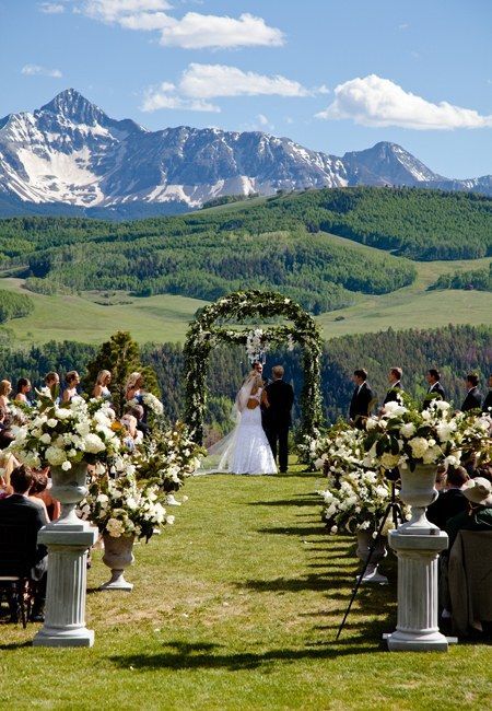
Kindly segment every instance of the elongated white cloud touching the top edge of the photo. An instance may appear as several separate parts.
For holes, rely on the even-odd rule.
[[[159,31],[160,44],[185,49],[283,45],[283,33],[262,18],[243,13],[239,18],[187,12],[176,19],[166,12],[167,0],[81,0],[75,7],[93,20],[119,24],[127,30]]]

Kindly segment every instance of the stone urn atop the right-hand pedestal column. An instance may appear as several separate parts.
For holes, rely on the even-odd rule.
[[[400,469],[400,499],[411,506],[411,518],[398,526],[398,533],[403,535],[433,534],[437,526],[427,521],[425,509],[438,496],[435,489],[435,464],[418,464],[413,471]]]

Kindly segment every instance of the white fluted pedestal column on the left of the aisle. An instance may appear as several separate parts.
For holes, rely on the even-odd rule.
[[[85,627],[87,549],[97,528],[82,521],[49,524],[38,533],[48,548],[48,585],[45,623],[34,646],[92,646],[94,632]]]

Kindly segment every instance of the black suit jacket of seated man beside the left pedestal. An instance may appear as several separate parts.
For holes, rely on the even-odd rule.
[[[32,569],[36,580],[43,574],[47,550],[37,543],[37,532],[45,524],[43,509],[27,497],[0,499],[0,574],[30,576]]]

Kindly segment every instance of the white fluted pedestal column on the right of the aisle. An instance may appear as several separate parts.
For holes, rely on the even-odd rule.
[[[398,622],[387,637],[390,651],[447,652],[437,625],[437,557],[447,548],[447,534],[389,533],[398,556]]]

